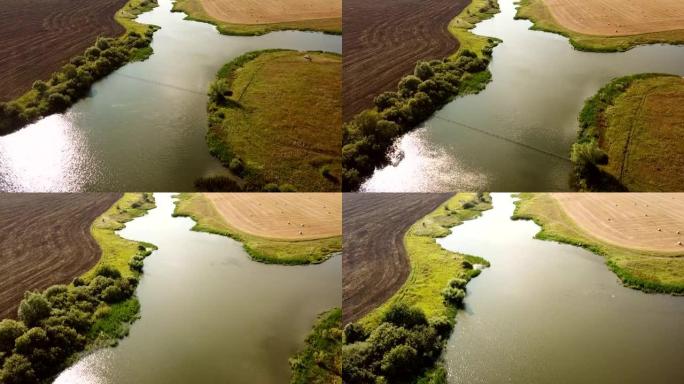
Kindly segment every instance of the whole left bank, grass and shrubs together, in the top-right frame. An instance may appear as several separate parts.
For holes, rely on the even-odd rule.
[[[499,12],[495,0],[475,0],[449,24],[460,48],[443,60],[421,61],[397,90],[378,95],[372,109],[344,125],[342,190],[354,191],[375,169],[389,163],[390,148],[433,113],[459,95],[477,93],[491,80],[487,66],[498,39],[470,30]]]

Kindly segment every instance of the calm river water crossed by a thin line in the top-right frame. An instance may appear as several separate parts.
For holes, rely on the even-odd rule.
[[[570,163],[563,158],[586,98],[618,76],[684,75],[684,47],[575,51],[566,38],[530,31],[532,23],[514,20],[513,0],[499,3],[502,12],[474,30],[503,40],[490,66],[493,82],[478,95],[454,100],[404,136],[398,143],[404,159],[377,170],[363,190],[567,190]]]

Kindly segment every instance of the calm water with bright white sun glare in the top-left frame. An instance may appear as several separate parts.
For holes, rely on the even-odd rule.
[[[139,17],[162,27],[147,61],[98,82],[66,113],[0,137],[1,191],[193,190],[196,178],[226,172],[204,141],[206,92],[223,64],[266,48],[342,49],[322,33],[220,35],[171,6],[159,0]]]

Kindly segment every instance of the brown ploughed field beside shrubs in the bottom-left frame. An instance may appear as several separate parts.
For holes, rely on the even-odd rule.
[[[93,221],[118,193],[3,194],[0,198],[0,319],[16,317],[27,290],[70,282],[100,258]]]

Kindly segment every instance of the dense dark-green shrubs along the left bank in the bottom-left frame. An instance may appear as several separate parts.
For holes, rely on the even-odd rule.
[[[27,292],[19,304],[19,321],[0,322],[1,383],[39,383],[62,370],[69,357],[85,348],[93,324],[109,305],[133,296],[138,280],[103,266],[90,281],[76,282]]]

